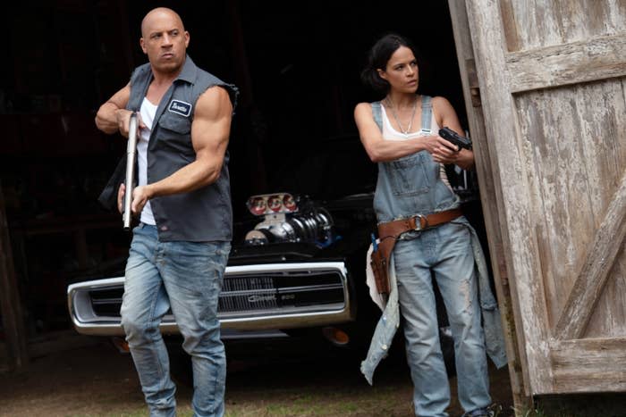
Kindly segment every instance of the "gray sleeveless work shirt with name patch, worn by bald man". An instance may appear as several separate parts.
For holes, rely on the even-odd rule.
[[[152,81],[150,64],[138,67],[131,76],[129,110],[139,111]],[[191,122],[196,101],[207,88],[224,87],[236,103],[237,88],[199,69],[189,55],[181,73],[158,104],[148,143],[148,184],[170,176],[196,159],[191,145]],[[233,209],[228,174],[228,153],[219,178],[207,187],[189,193],[160,196],[150,200],[161,241],[230,241]]]

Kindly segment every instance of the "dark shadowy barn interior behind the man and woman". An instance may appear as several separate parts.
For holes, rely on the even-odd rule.
[[[131,70],[146,62],[140,21],[160,5],[181,14],[194,62],[241,89],[229,146],[235,221],[246,216],[250,195],[278,187],[325,198],[346,191],[334,182],[345,177],[355,193],[373,190],[374,176],[351,178],[352,164],[366,158],[352,111],[378,98],[361,86],[359,73],[368,47],[387,31],[418,46],[419,92],[447,97],[467,128],[446,2],[8,4],[0,69],[0,214],[28,340],[71,329],[67,285],[102,277],[127,254],[129,235],[119,214],[97,204],[125,141],[100,133],[93,119]],[[340,139],[353,142],[354,160],[334,166],[332,176],[301,166],[303,155],[332,152]],[[309,170],[306,184],[293,182],[296,169]]]

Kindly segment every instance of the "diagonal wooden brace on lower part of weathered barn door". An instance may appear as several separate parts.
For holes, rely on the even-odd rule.
[[[579,276],[571,288],[563,313],[554,328],[555,338],[581,338],[597,299],[605,288],[615,257],[622,249],[626,236],[626,172],[622,183],[606,210],[605,219],[596,231],[596,237]]]

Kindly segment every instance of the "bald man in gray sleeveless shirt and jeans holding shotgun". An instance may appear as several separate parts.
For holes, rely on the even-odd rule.
[[[225,354],[217,301],[232,240],[226,146],[237,89],[187,55],[190,34],[166,8],[141,22],[148,63],[97,112],[97,128],[128,137],[139,114],[138,185],[121,309],[150,415],[174,415],[175,386],[158,329],[171,309],[193,364],[194,415],[224,414]],[[122,212],[124,186],[117,195]]]

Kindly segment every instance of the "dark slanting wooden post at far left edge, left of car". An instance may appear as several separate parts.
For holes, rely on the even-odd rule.
[[[9,369],[21,368],[29,361],[26,334],[21,315],[20,293],[13,268],[13,251],[4,210],[4,195],[0,184],[0,312],[6,337]]]

